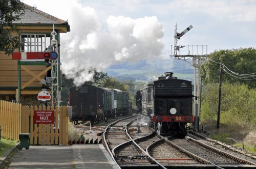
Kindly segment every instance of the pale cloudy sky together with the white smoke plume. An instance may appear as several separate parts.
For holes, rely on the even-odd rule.
[[[172,67],[174,59],[169,55],[174,52],[171,46],[176,24],[178,33],[193,26],[178,41],[178,45],[185,46],[181,49],[184,54],[256,45],[254,0],[22,2],[68,20],[71,32],[60,36],[62,72],[75,78],[76,85],[92,79],[89,69],[102,71],[122,62],[146,59],[153,67]],[[199,49],[192,49],[191,45],[199,45]]]

